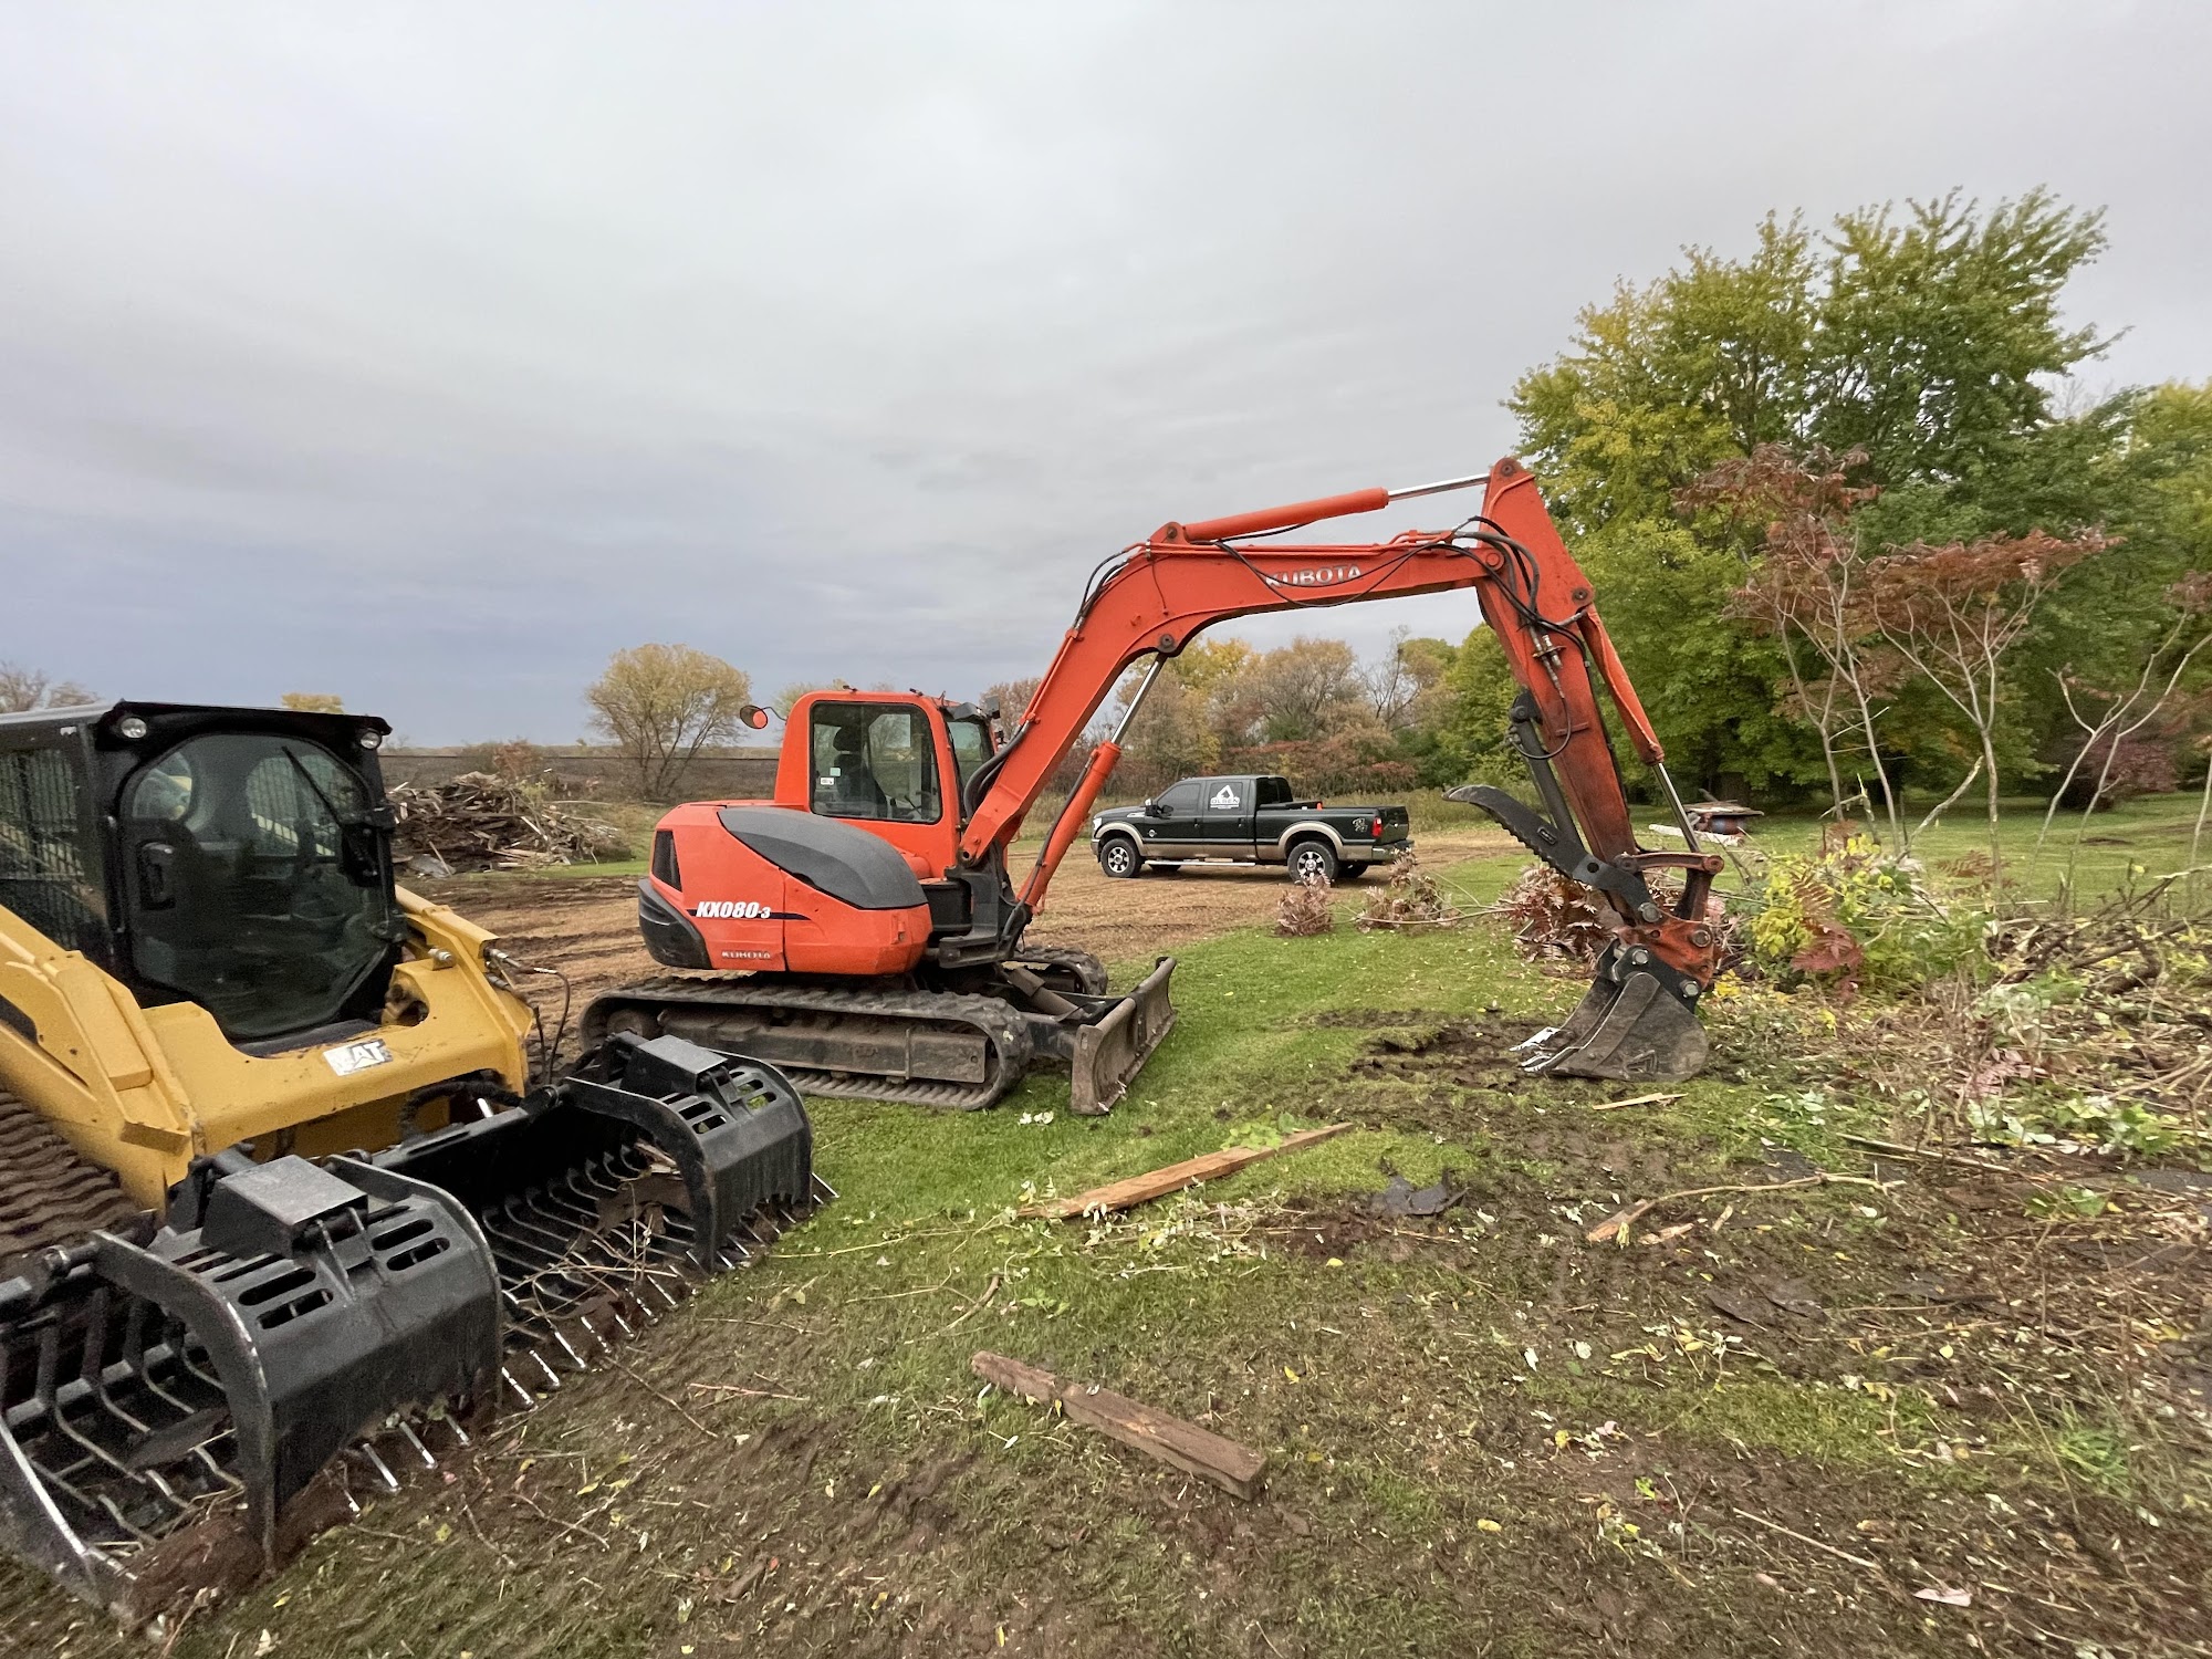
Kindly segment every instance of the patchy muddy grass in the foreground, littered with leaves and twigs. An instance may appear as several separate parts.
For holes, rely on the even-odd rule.
[[[1473,907],[1517,863],[1444,876]],[[1876,1166],[1721,1013],[1677,1099],[1599,1110],[1644,1091],[1520,1077],[1504,1046],[1582,984],[1480,918],[1358,933],[1360,902],[1321,938],[1181,953],[1181,1024],[1110,1117],[1042,1075],[989,1113],[814,1102],[834,1206],[173,1652],[1951,1655],[2185,1630],[2201,1478],[2174,1484],[2048,1303],[2042,1329],[2006,1312],[2051,1234],[2017,1192],[1927,1166],[1681,1199],[1641,1223],[1679,1237],[1593,1245],[1632,1199]],[[1338,1119],[1124,1219],[1018,1217]],[[1460,1203],[1376,1214],[1394,1172]],[[1975,1272],[1995,1316],[1905,1290]],[[984,1394],[984,1347],[1263,1449],[1267,1495]],[[2046,1371],[2068,1380],[2022,1380]],[[144,1650],[58,1597],[13,1635]]]

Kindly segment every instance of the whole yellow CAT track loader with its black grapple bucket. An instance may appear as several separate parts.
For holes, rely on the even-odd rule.
[[[354,714],[0,717],[0,1546],[126,1617],[529,1405],[821,1194],[774,1066],[531,1060]],[[148,1597],[155,1606],[148,1606]]]

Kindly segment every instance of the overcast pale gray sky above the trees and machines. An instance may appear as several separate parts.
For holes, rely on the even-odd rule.
[[[2090,389],[2205,378],[2208,84],[2117,0],[4,0],[0,659],[416,741],[644,639],[973,692],[1161,520],[1489,467],[1767,208],[2048,184]]]

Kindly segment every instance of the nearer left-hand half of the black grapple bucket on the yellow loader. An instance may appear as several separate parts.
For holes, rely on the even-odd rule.
[[[221,1168],[181,1225],[0,1283],[0,1531],[124,1617],[250,1577],[347,1444],[500,1369],[491,1252],[456,1199],[296,1157]]]

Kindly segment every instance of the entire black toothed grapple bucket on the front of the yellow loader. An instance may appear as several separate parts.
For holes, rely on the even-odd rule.
[[[0,1281],[0,1546],[126,1619],[250,1579],[825,1197],[790,1082],[681,1037],[367,1157],[204,1159]]]

